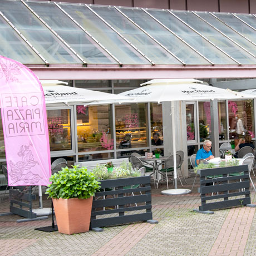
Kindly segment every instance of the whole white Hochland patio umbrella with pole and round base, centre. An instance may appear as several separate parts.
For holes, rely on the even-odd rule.
[[[174,101],[180,100],[213,100],[213,99],[243,99],[242,94],[231,90],[202,85],[193,78],[188,79],[154,79],[142,83],[140,88],[122,92],[119,95],[134,98],[134,102],[164,102],[171,101],[171,120],[173,130],[173,152],[176,152],[175,144],[175,120],[174,120]],[[145,85],[145,86],[143,86]],[[248,98],[250,96],[248,95]],[[188,189],[177,188],[177,166],[176,154],[174,155],[174,181],[175,189],[162,191],[162,194],[188,194]]]

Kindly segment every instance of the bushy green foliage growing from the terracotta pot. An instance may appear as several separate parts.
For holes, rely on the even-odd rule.
[[[51,198],[86,199],[100,189],[100,182],[95,175],[87,171],[87,168],[78,168],[77,165],[72,168],[62,168],[50,177],[50,181],[46,194]]]

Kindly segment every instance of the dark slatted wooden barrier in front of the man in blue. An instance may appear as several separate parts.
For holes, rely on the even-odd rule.
[[[234,174],[237,175],[232,176]],[[220,177],[216,178],[217,175]],[[250,204],[249,187],[248,165],[200,170],[199,210],[208,211]]]

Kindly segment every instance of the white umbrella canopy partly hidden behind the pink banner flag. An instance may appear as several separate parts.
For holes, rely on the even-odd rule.
[[[127,101],[127,98],[122,95],[115,95],[106,92],[92,91],[83,88],[60,85],[62,81],[58,80],[43,80],[41,81],[43,91],[45,92],[46,104],[53,103],[75,103],[75,102],[94,102],[95,104],[105,104],[106,102],[115,103]],[[130,99],[128,99],[130,100]]]

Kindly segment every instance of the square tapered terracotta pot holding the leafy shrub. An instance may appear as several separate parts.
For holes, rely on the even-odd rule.
[[[87,232],[90,228],[92,199],[55,199],[53,205],[58,225],[58,232],[77,234]]]

